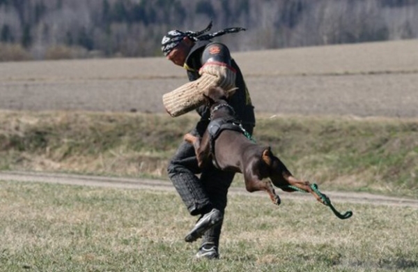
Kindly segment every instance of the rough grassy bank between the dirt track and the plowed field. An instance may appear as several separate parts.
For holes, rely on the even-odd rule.
[[[0,112],[0,169],[167,179],[167,163],[196,120],[194,114]],[[323,190],[418,195],[417,119],[261,115],[254,138]]]

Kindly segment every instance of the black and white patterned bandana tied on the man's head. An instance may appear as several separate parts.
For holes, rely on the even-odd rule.
[[[221,31],[217,31],[215,33],[210,33],[210,34],[206,34],[203,35],[203,33],[206,33],[208,31],[210,31],[210,29],[212,28],[212,21],[210,21],[210,23],[208,24],[208,27],[206,27],[206,29],[203,29],[201,31],[180,31],[180,30],[171,30],[169,31],[169,33],[167,33],[161,41],[161,50],[164,53],[164,56],[167,56],[171,50],[173,50],[174,47],[176,47],[181,40],[183,40],[183,38],[188,37],[194,41],[198,41],[198,40],[210,40],[211,38],[215,38],[218,36],[222,36],[226,33],[236,33],[239,31],[243,31],[245,30],[242,27],[230,27],[228,29],[223,29]]]

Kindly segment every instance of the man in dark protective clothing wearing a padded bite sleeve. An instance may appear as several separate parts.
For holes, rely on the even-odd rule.
[[[162,52],[167,59],[187,70],[190,81],[164,94],[164,106],[171,116],[196,109],[201,119],[190,133],[202,136],[210,121],[210,109],[202,105],[202,94],[210,86],[221,86],[232,90],[229,92],[229,104],[235,109],[243,128],[251,135],[255,126],[254,107],[240,68],[231,58],[226,45],[210,41],[216,36],[245,29],[230,28],[203,35],[211,27],[212,22],[199,32],[173,30],[162,39]],[[194,147],[184,141],[169,163],[168,174],[189,213],[201,216],[185,241],[193,242],[203,236],[196,257],[219,258],[219,237],[226,195],[234,173],[222,172],[213,165],[199,169]],[[200,178],[196,174],[201,174]]]

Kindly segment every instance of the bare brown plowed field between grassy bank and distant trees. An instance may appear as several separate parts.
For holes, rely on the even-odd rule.
[[[256,112],[418,116],[418,40],[233,52]],[[163,57],[0,63],[0,109],[164,112]]]

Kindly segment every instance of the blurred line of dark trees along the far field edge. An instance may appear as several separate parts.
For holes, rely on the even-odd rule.
[[[0,60],[161,56],[170,29],[245,27],[231,50],[418,38],[416,0],[0,0]]]

